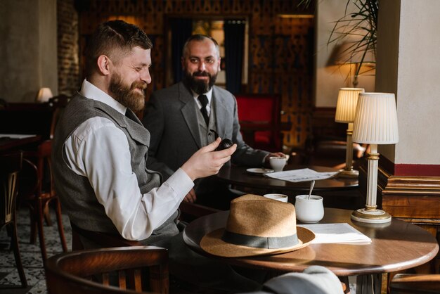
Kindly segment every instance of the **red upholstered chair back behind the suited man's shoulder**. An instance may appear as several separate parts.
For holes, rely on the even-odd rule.
[[[238,120],[245,142],[253,148],[282,151],[280,96],[277,94],[238,94]]]

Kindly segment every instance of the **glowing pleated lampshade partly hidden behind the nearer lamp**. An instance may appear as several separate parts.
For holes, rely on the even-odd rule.
[[[341,88],[337,95],[335,122],[354,122],[356,104],[363,88]]]

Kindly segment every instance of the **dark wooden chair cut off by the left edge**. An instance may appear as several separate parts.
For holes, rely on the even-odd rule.
[[[11,247],[23,288],[27,287],[25,271],[18,247],[15,201],[18,193],[18,173],[22,167],[22,153],[0,155],[0,229],[6,226],[11,232]]]

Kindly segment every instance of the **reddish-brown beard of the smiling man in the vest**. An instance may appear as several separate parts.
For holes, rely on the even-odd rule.
[[[136,91],[136,88],[142,89],[142,93]],[[141,81],[135,81],[131,86],[125,85],[119,73],[115,73],[110,79],[109,90],[114,95],[113,98],[135,112],[142,110],[145,106],[145,89],[147,89],[147,84]]]

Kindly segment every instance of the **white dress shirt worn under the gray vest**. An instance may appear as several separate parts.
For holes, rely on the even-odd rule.
[[[126,107],[85,79],[80,94],[125,115]],[[194,186],[179,168],[160,187],[142,195],[131,170],[127,136],[104,117],[92,117],[80,124],[65,141],[64,151],[70,169],[89,179],[105,213],[128,240],[148,238],[172,216]]]

